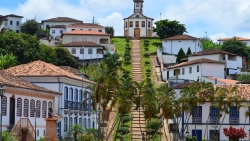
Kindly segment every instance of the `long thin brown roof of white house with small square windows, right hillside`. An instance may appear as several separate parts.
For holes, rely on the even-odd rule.
[[[215,63],[215,64],[225,64],[223,62],[215,61],[215,60],[210,60],[206,58],[201,58],[201,59],[196,59],[188,62],[183,62],[174,66],[168,67],[168,69],[172,68],[178,68],[178,67],[183,67],[183,66],[188,66],[188,65],[193,65],[193,64],[199,64],[199,63]]]

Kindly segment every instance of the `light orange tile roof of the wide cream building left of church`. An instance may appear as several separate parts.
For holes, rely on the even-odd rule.
[[[111,34],[106,34],[103,32],[95,30],[73,30],[70,32],[65,32],[63,35],[101,35],[101,36],[111,36]]]

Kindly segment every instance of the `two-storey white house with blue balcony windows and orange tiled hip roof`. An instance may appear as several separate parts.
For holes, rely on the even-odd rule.
[[[97,114],[93,112],[91,100],[82,105],[85,99],[90,98],[91,91],[87,86],[92,86],[93,82],[42,61],[22,64],[5,71],[62,94],[53,102],[54,112],[58,116],[59,139],[66,136],[73,124],[80,124],[84,128],[97,128]],[[89,93],[84,94],[85,91]]]

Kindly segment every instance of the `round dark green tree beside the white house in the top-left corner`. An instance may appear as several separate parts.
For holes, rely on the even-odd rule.
[[[35,35],[38,29],[39,23],[34,19],[26,20],[26,22],[21,25],[21,31],[30,35]]]

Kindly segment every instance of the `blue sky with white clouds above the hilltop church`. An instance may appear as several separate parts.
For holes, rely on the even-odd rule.
[[[250,0],[145,0],[144,15],[158,21],[177,20],[189,35],[219,38],[250,38]],[[40,22],[71,17],[84,22],[113,26],[123,35],[123,18],[133,12],[133,0],[0,0],[0,15],[17,14]],[[160,16],[161,13],[161,16]]]

